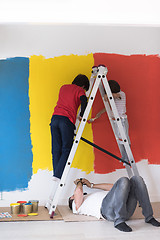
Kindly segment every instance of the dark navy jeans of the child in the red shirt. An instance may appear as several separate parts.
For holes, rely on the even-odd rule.
[[[53,115],[50,126],[54,176],[61,178],[72,148],[75,125],[67,117]]]

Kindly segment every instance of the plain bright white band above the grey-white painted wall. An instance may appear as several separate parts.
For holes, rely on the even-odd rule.
[[[5,0],[0,21],[160,26],[159,0]]]

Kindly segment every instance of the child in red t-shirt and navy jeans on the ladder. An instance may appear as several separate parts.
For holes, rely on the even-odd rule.
[[[63,85],[52,115],[50,127],[52,135],[53,176],[61,179],[74,138],[77,110],[81,105],[79,120],[82,119],[87,105],[85,91],[89,89],[89,79],[79,74],[72,84]]]

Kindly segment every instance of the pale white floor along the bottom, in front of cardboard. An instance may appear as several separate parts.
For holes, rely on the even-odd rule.
[[[159,219],[160,220],[160,219]],[[123,233],[113,227],[112,222],[64,222],[64,221],[30,221],[1,222],[1,240],[159,240],[160,227],[146,224],[144,220],[127,222],[132,232]]]

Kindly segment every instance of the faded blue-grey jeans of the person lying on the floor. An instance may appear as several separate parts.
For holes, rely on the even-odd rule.
[[[125,222],[134,213],[137,201],[142,207],[142,214],[148,222],[153,217],[146,185],[140,176],[120,178],[102,201],[101,214],[114,221],[114,226]]]

